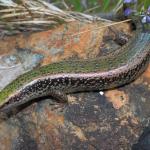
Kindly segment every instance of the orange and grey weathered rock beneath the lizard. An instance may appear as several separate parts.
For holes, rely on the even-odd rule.
[[[90,59],[120,47],[109,28],[84,33],[97,24],[73,25],[4,37],[0,41],[0,88],[35,66],[61,59]],[[130,35],[127,24],[117,29]],[[67,39],[66,35],[79,31],[83,34]],[[70,94],[69,104],[51,98],[27,104],[0,122],[0,150],[131,149],[150,126],[150,65],[133,83],[103,92]]]

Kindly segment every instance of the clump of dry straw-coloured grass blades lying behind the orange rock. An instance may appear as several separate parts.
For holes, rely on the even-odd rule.
[[[1,34],[3,31],[9,35],[35,29],[39,31],[74,20],[91,22],[95,19],[100,18],[66,12],[43,0],[0,0]]]

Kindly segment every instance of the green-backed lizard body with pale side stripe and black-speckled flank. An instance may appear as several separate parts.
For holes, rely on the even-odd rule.
[[[149,58],[150,34],[139,32],[107,56],[43,66],[21,75],[0,92],[0,111],[8,112],[41,96],[51,95],[65,101],[68,93],[124,85],[144,71]]]

